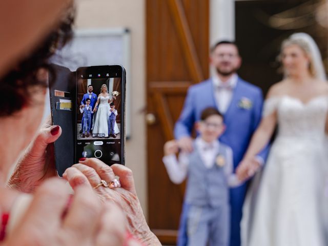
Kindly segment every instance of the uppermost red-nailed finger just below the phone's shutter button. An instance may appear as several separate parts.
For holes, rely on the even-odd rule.
[[[97,158],[87,158],[85,160],[80,160],[79,163],[83,163],[84,165],[93,168],[99,177],[108,183],[115,178],[112,168]]]

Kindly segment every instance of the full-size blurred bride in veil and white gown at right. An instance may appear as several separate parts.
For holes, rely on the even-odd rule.
[[[244,202],[242,245],[325,246],[328,84],[308,34],[286,39],[280,57],[284,79],[270,88],[260,126],[237,168],[240,179],[254,173],[251,160],[278,124],[265,168],[255,178],[259,186],[253,182]]]

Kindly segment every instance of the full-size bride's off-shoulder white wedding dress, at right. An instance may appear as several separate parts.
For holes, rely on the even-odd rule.
[[[267,99],[263,116],[275,111],[278,134],[244,202],[242,245],[326,246],[328,97]]]

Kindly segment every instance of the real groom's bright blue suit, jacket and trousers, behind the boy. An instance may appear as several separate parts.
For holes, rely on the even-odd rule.
[[[217,102],[213,92],[212,79],[205,80],[199,84],[189,88],[185,105],[183,106],[180,118],[176,122],[174,135],[176,139],[183,136],[190,136],[194,123],[200,120],[202,110],[207,107],[217,108]],[[240,106],[242,101],[251,101],[250,108]],[[224,124],[227,129],[221,135],[219,140],[230,146],[233,150],[234,168],[242,159],[245,151],[248,148],[250,139],[256,130],[262,114],[263,96],[260,88],[238,78],[236,87],[233,91],[231,104],[224,114]],[[265,160],[267,157],[268,147],[265,148],[260,156]],[[230,190],[231,204],[231,240],[230,245],[240,245],[240,219],[242,204],[245,197],[247,185]],[[188,204],[183,205],[178,245],[186,245],[187,234],[186,227],[186,211]]]

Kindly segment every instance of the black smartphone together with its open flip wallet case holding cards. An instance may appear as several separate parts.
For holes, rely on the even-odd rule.
[[[126,72],[120,65],[52,65],[49,86],[53,125],[62,133],[54,142],[59,176],[83,157],[125,164]],[[103,89],[101,89],[103,88]],[[103,90],[103,91],[102,91]]]

